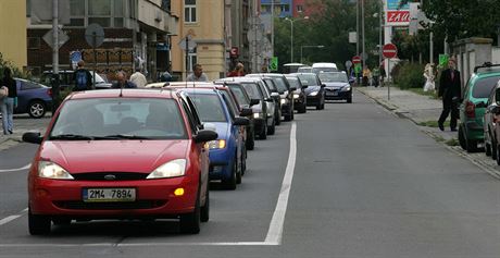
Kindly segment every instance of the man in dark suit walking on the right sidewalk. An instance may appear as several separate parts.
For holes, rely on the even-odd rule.
[[[455,60],[450,58],[448,69],[442,71],[439,78],[438,96],[442,98],[442,112],[439,116],[438,126],[445,131],[445,121],[451,112],[450,128],[457,131],[457,120],[459,118],[459,102],[461,99],[460,72],[455,70]]]

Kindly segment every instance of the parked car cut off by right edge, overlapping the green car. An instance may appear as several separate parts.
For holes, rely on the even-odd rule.
[[[493,90],[488,98],[487,107],[484,115],[484,137],[485,137],[485,151],[486,156],[491,156],[500,164],[499,152],[499,137],[500,128],[500,81],[497,82]]]

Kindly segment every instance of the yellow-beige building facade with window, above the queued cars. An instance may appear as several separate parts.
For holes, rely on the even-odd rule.
[[[172,2],[172,14],[179,17],[180,28],[172,37],[173,73],[184,81],[199,63],[209,79],[224,77],[226,69],[225,0],[178,0]],[[196,45],[186,51],[180,42]],[[183,46],[185,48],[185,46]],[[187,63],[186,63],[187,60]]]

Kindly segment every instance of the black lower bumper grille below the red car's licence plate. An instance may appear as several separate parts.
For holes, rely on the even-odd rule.
[[[70,210],[126,210],[126,209],[154,209],[162,207],[166,200],[136,200],[136,201],[102,201],[85,202],[79,200],[63,200],[53,202],[58,208]]]

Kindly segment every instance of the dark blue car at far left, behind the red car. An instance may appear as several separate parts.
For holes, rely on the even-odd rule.
[[[14,113],[28,113],[41,119],[52,108],[51,88],[24,78],[14,78],[17,85],[17,108]]]

